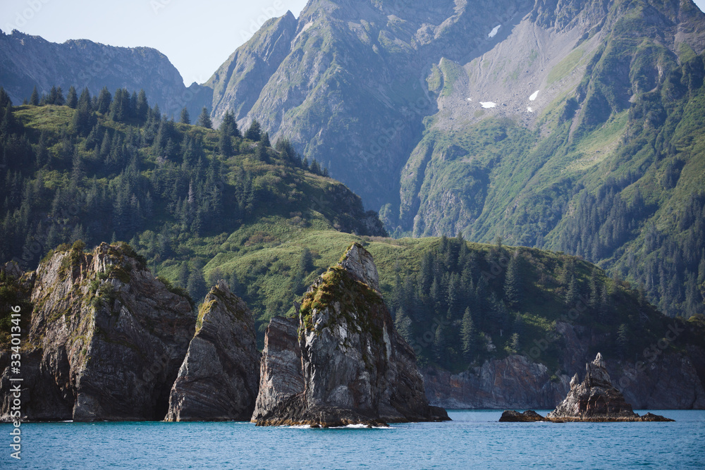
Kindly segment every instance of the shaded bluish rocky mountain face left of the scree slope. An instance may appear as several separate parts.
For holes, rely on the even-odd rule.
[[[427,68],[483,47],[496,22],[530,7],[312,0],[298,20],[266,23],[213,75],[214,116],[257,118],[379,208],[397,199],[398,171],[435,112]]]

